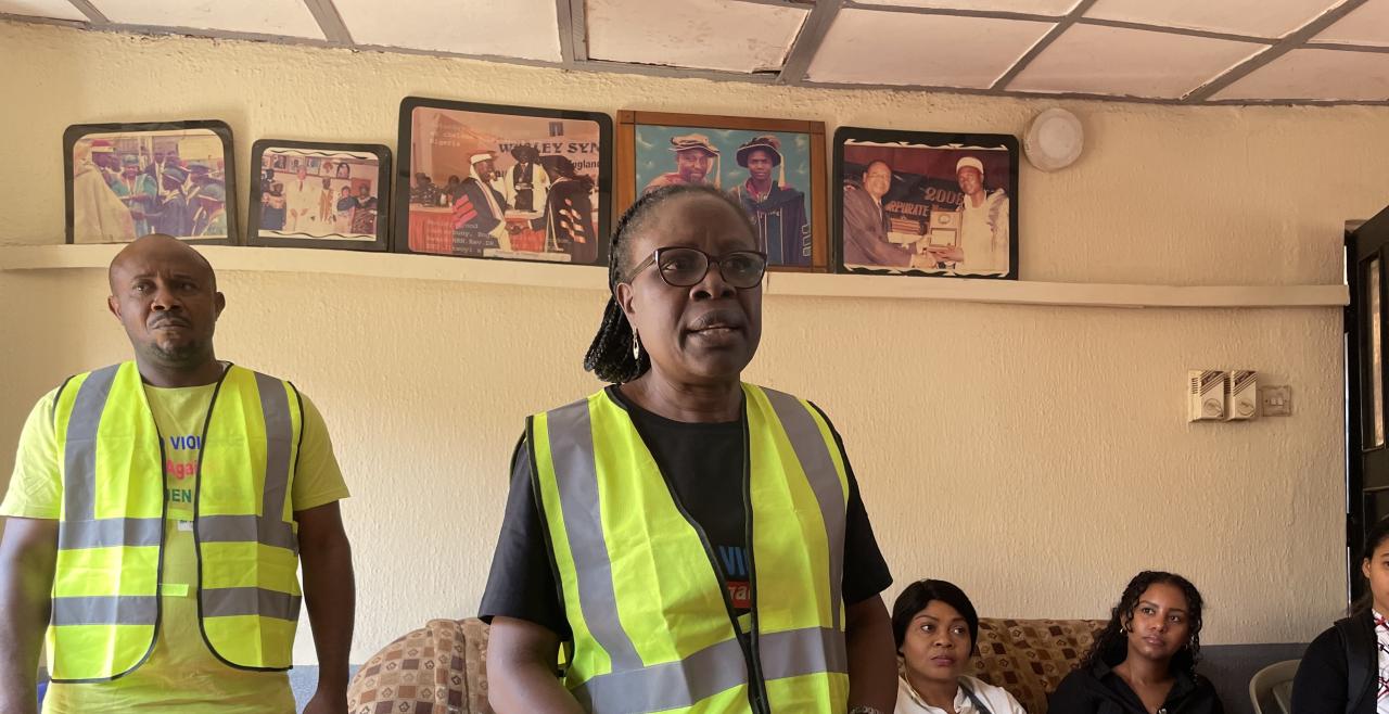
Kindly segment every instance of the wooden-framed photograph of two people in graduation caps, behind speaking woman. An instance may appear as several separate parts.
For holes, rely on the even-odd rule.
[[[706,183],[743,204],[772,269],[829,271],[824,122],[619,111],[617,151],[619,211]]]

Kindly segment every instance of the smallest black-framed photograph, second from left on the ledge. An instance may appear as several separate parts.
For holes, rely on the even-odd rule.
[[[251,165],[249,244],[389,250],[390,149],[261,139]]]

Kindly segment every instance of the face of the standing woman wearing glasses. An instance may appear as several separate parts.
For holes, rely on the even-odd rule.
[[[685,194],[658,204],[622,246],[628,265],[658,247],[685,246],[714,258],[757,243],[738,210],[717,196]],[[675,288],[651,264],[624,275],[617,300],[654,372],[678,383],[738,381],[763,336],[763,288],[736,289],[710,263],[704,279]]]

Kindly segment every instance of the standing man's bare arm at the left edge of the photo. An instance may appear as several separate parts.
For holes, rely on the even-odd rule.
[[[0,711],[38,711],[39,653],[49,626],[58,522],[6,518],[0,540]]]

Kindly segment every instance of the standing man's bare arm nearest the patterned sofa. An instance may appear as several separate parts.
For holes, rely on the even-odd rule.
[[[304,568],[304,604],[318,653],[318,689],[304,714],[340,714],[347,710],[347,658],[357,608],[351,545],[338,501],[299,511],[294,520]]]

